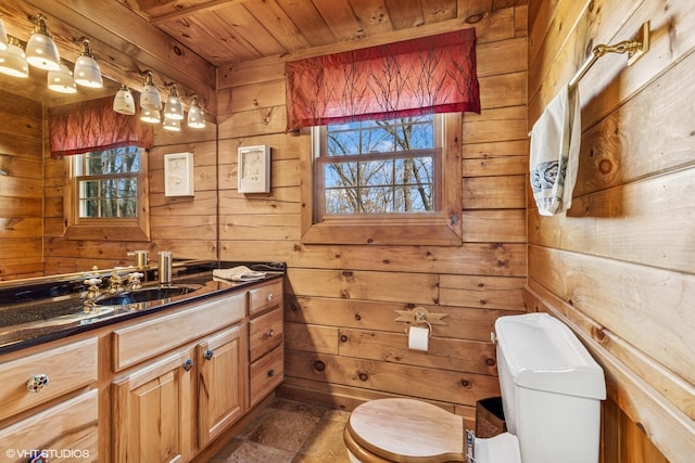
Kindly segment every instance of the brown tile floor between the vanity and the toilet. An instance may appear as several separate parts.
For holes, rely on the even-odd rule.
[[[350,412],[275,399],[208,463],[349,463]]]

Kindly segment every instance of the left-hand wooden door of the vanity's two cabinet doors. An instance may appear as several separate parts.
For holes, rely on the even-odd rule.
[[[191,458],[192,355],[192,349],[182,349],[114,381],[115,462],[185,462]]]

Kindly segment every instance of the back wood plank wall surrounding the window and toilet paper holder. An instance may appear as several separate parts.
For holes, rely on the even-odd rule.
[[[490,332],[497,317],[525,310],[526,13],[506,9],[476,25],[483,111],[463,124],[462,246],[302,244],[300,151],[309,139],[285,132],[283,63],[222,69],[220,256],[288,263],[281,395],[345,409],[407,396],[472,419],[477,399],[498,394]],[[237,147],[254,144],[271,147],[268,195],[236,189]],[[408,350],[394,321],[414,306],[446,314],[429,352]]]

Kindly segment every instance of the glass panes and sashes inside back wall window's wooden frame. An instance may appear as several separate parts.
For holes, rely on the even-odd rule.
[[[433,115],[323,127],[317,218],[435,210],[435,141]]]

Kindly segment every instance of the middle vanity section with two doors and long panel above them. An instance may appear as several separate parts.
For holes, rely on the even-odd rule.
[[[115,462],[189,461],[247,411],[245,308],[237,293],[114,330]]]

